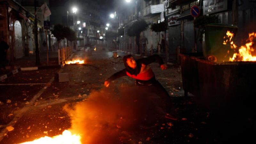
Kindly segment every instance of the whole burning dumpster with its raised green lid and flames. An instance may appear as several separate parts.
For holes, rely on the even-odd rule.
[[[254,42],[256,33],[250,33],[246,44],[238,47],[232,40],[236,27],[217,28],[216,30],[220,29],[221,31],[227,30],[225,35],[223,36],[220,31],[216,32],[218,35],[215,36],[218,38],[213,40],[215,43],[219,43],[219,37],[222,35],[222,50],[218,47],[215,48],[214,42],[206,41],[203,42],[205,43],[205,45],[203,44],[204,53],[180,54],[185,96],[188,92],[192,93],[196,96],[200,106],[208,108],[218,115],[242,114],[246,117],[254,117],[256,96],[254,91],[254,82],[256,81],[254,49],[256,46]],[[206,30],[205,33],[207,33]],[[203,40],[207,39],[203,38]],[[211,53],[209,55],[212,57],[209,58],[208,53]]]

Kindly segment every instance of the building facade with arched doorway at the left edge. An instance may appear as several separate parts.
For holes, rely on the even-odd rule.
[[[26,46],[34,47],[34,19],[34,15],[16,1],[0,0],[0,36],[10,46],[7,59],[11,63],[25,56]]]

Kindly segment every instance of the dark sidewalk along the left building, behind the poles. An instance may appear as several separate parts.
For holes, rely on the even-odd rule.
[[[58,52],[49,52],[49,66],[58,65]],[[40,66],[47,66],[47,56],[46,52],[40,53]],[[12,64],[10,64],[12,66]],[[20,66],[21,68],[25,67],[35,67],[36,66],[36,55],[29,55],[28,57],[23,57],[20,59],[14,60],[14,66]]]

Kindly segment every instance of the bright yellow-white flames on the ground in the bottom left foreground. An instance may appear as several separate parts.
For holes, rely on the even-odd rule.
[[[50,137],[42,137],[34,141],[24,142],[21,144],[82,144],[80,135],[73,134],[65,130],[62,135]]]

